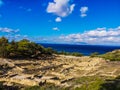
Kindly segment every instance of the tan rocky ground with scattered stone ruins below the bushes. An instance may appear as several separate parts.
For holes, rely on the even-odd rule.
[[[12,86],[18,83],[25,86],[52,83],[57,86],[74,86],[73,80],[83,76],[120,75],[120,62],[105,61],[88,56],[56,56],[53,60],[11,60],[0,59],[0,81]]]

